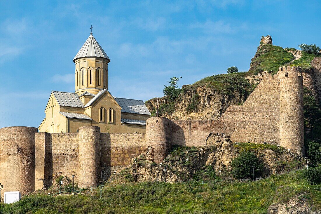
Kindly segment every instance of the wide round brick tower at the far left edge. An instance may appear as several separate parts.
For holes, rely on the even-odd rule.
[[[22,195],[35,191],[35,133],[33,127],[0,129],[0,183],[4,192]]]

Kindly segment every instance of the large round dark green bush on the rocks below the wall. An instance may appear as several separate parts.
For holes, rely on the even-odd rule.
[[[231,166],[231,174],[236,179],[253,178],[252,166],[254,166],[254,177],[260,177],[264,167],[263,162],[250,151],[241,152],[232,160]]]

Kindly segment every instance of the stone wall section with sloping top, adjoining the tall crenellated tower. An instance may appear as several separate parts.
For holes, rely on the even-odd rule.
[[[231,105],[222,120],[235,123],[234,142],[280,144],[280,81],[265,74],[243,105]]]

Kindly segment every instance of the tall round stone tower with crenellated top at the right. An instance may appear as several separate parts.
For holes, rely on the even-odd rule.
[[[280,145],[304,156],[303,78],[299,67],[280,67]]]

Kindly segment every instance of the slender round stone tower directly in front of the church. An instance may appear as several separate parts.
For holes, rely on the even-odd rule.
[[[91,187],[99,183],[100,171],[100,128],[82,126],[79,128],[79,172],[78,186]]]

